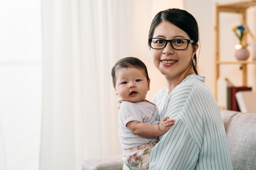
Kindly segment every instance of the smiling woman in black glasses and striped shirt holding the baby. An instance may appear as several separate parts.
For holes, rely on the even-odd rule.
[[[153,102],[160,119],[176,119],[152,150],[150,170],[232,170],[218,105],[197,71],[198,24],[181,9],[167,9],[153,19],[148,45],[167,87]]]

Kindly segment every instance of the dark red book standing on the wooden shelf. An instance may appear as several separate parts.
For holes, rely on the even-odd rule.
[[[234,111],[240,111],[238,102],[236,100],[236,93],[239,91],[252,91],[252,87],[246,87],[246,86],[241,86],[241,87],[229,87],[228,88],[228,105],[230,108],[228,110],[234,110]]]

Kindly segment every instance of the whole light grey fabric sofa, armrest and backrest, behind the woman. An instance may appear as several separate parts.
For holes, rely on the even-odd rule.
[[[234,170],[256,170],[256,113],[220,110]],[[121,155],[85,160],[83,170],[122,170]],[[171,169],[171,168],[170,168]]]

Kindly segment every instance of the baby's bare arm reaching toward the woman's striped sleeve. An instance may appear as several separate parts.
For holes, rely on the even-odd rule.
[[[157,125],[141,123],[139,121],[130,121],[126,127],[135,135],[143,137],[157,137],[164,135],[175,123],[174,119],[164,117]]]

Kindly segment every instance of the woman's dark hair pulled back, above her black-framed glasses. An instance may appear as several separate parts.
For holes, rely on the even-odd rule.
[[[192,43],[193,46],[198,42],[198,23],[193,15],[182,9],[166,9],[157,13],[151,22],[148,38],[153,38],[155,27],[163,21],[171,22],[185,31],[189,35],[189,38],[194,40]],[[150,46],[149,42],[148,45]],[[192,66],[195,74],[198,75],[196,54],[193,56]]]

